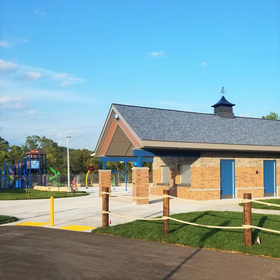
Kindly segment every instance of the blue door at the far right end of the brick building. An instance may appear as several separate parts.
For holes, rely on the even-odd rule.
[[[263,161],[263,186],[265,197],[274,196],[276,192],[276,161]]]

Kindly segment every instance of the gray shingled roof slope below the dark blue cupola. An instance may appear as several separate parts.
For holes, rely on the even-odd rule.
[[[280,146],[280,121],[113,104],[141,140]]]

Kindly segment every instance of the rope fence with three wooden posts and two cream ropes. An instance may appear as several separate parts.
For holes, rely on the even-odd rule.
[[[257,201],[257,200],[252,200],[252,195],[251,194],[243,194],[243,199],[240,201],[234,201],[234,202],[207,202],[207,201],[200,201],[200,200],[192,200],[192,199],[184,199],[184,198],[178,198],[178,197],[173,197],[169,195],[169,190],[163,190],[163,195],[158,196],[158,197],[153,197],[152,199],[161,199],[163,198],[163,216],[160,218],[142,218],[142,217],[128,217],[128,216],[123,216],[123,215],[118,215],[111,213],[109,211],[109,195],[117,196],[117,197],[125,197],[125,198],[136,198],[136,199],[150,199],[150,197],[127,197],[123,195],[116,195],[112,194],[109,192],[109,187],[103,187],[101,191],[102,195],[102,227],[108,227],[109,226],[109,214],[116,216],[116,217],[121,217],[121,218],[126,218],[126,219],[133,219],[133,220],[147,220],[147,221],[152,221],[152,220],[163,220],[163,235],[167,235],[169,233],[169,220],[176,221],[176,222],[181,222],[187,225],[193,225],[197,227],[206,227],[206,228],[217,228],[217,229],[243,229],[244,230],[244,245],[246,247],[252,246],[252,228],[256,228],[258,230],[265,230],[268,232],[274,232],[274,233],[279,233],[279,230],[271,230],[268,228],[264,227],[257,227],[252,225],[252,202],[256,203],[261,203],[261,204],[266,204],[269,206],[276,206],[280,207],[279,204],[273,204],[273,203],[267,203],[267,202],[262,202],[262,201]],[[243,203],[243,216],[244,216],[244,224],[238,227],[222,227],[222,226],[213,226],[213,225],[201,225],[201,224],[196,224],[192,222],[187,222],[183,220],[178,220],[172,217],[169,217],[169,199],[179,199],[183,200],[186,202],[195,202],[195,203],[205,203],[205,204],[234,204],[234,203]]]

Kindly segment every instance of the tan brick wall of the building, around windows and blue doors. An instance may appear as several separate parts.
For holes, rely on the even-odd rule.
[[[202,151],[199,158],[155,157],[153,162],[153,186],[156,186],[156,188],[151,188],[150,193],[162,194],[162,190],[169,187],[173,189],[173,194],[178,197],[202,200],[220,199],[221,159],[235,159],[236,198],[243,197],[244,192],[252,193],[252,197],[263,197],[263,160],[276,160],[276,183],[280,189],[279,153]],[[191,165],[191,185],[188,187],[176,186],[181,183],[180,164]],[[170,167],[169,186],[157,185],[162,183],[161,166]],[[258,174],[256,174],[256,171],[258,171]],[[197,191],[194,189],[197,189]],[[204,189],[207,189],[207,191]],[[208,191],[208,189],[210,190]]]

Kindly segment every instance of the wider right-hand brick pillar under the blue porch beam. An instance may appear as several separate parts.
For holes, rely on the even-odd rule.
[[[132,167],[132,196],[149,197],[148,167]],[[132,199],[133,204],[149,204],[149,199]]]

